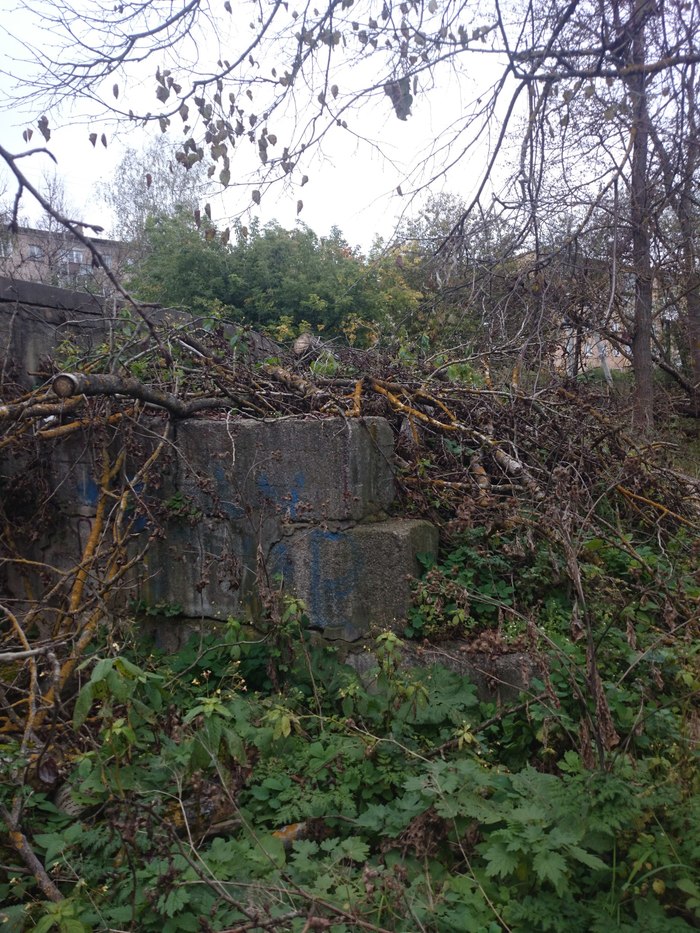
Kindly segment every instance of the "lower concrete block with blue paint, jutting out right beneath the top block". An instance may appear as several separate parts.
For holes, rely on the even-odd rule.
[[[353,641],[406,615],[418,555],[437,553],[429,522],[392,519],[345,530],[295,530],[276,544],[270,569],[304,600],[313,627]]]

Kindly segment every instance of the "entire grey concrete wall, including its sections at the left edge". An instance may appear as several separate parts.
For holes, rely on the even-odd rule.
[[[84,295],[0,280],[6,374],[11,368],[24,386],[43,381],[42,361],[64,337],[85,348],[105,340],[106,312]],[[162,427],[154,419],[130,428],[141,432],[142,456]],[[438,535],[428,522],[390,517],[393,444],[382,418],[251,421],[221,412],[176,422],[157,467],[163,533],[137,568],[134,597],[163,626],[254,620],[269,585],[302,598],[311,625],[329,637],[354,640],[400,619],[418,556],[436,552]],[[27,545],[33,559],[66,569],[79,559],[98,496],[93,456],[88,432],[41,445],[31,463],[0,455],[0,481],[31,468],[36,489],[50,491],[54,517]],[[154,531],[141,523],[141,536]],[[11,574],[5,586],[21,598]]]

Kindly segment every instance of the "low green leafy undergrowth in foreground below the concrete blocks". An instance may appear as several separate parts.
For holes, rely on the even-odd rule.
[[[459,578],[453,568],[478,555],[481,576],[462,582],[489,596],[483,606],[491,594],[507,606],[483,538],[461,547],[443,572]],[[587,547],[619,586],[640,572],[619,549]],[[542,591],[550,582],[543,566],[536,553],[531,607],[536,574]],[[635,612],[634,648],[600,619],[620,735],[604,769],[582,759],[579,723],[595,701],[563,609],[550,619],[548,683],[498,710],[461,674],[406,669],[391,633],[360,676],[314,646],[294,601],[262,640],[231,620],[172,656],[103,646],[84,664],[67,747],[72,815],[24,788],[26,832],[65,899],[44,901],[4,853],[5,929],[696,928],[700,684],[692,646],[659,639],[648,602]],[[13,754],[6,740],[8,774]],[[6,800],[15,792],[3,784]]]

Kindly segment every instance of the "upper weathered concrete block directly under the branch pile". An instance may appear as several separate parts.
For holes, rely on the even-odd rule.
[[[279,524],[358,521],[394,499],[383,418],[183,421],[177,489],[205,515]]]

